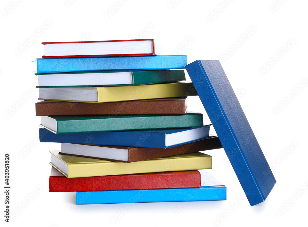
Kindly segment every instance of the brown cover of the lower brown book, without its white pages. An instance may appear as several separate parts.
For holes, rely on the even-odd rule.
[[[188,153],[195,153],[199,151],[205,150],[212,150],[222,148],[222,145],[217,136],[209,137],[207,139],[194,141],[174,147],[169,148],[148,148],[148,147],[122,147],[122,146],[103,146],[103,145],[89,145],[89,146],[101,146],[101,147],[112,147],[117,149],[128,149],[128,162],[135,162],[135,161],[143,161],[149,160],[153,158],[161,158],[161,157],[168,157],[173,155],[180,155],[180,154],[188,154]],[[109,161],[119,161],[114,159],[105,159],[105,158],[97,158],[91,156],[83,156],[78,154],[67,154],[59,152],[59,154],[66,154],[71,156],[79,156],[79,157],[90,157],[96,159],[103,159]],[[120,162],[127,162],[127,161],[120,161]]]

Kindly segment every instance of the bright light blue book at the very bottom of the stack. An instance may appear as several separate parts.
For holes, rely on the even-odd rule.
[[[76,204],[226,200],[226,186],[206,170],[199,171],[201,173],[200,188],[76,192]]]

